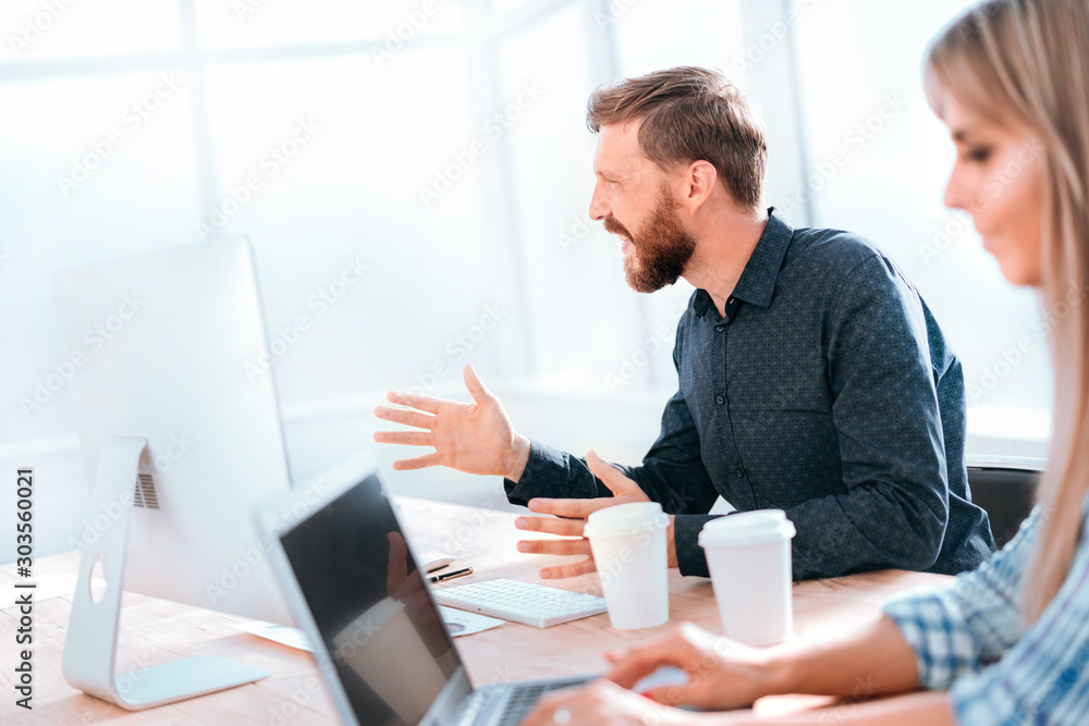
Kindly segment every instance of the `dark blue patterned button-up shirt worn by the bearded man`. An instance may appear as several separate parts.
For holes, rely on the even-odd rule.
[[[994,550],[964,463],[960,362],[900,269],[839,230],[770,217],[720,317],[697,290],[677,324],[680,390],[638,467],[675,514],[684,575],[718,496],[794,521],[794,578],[955,574]],[[511,502],[610,496],[584,459],[531,442]]]

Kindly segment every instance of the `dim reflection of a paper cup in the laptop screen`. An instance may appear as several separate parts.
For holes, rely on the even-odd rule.
[[[405,612],[392,598],[378,602],[333,638],[334,661],[359,674],[408,724],[427,713],[446,678]]]

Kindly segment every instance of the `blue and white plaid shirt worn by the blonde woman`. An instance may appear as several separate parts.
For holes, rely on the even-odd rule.
[[[959,724],[1089,724],[1089,533],[1059,594],[1026,628],[1018,593],[1041,519],[1037,507],[1002,552],[951,587],[885,605],[915,649],[920,685],[949,689]]]

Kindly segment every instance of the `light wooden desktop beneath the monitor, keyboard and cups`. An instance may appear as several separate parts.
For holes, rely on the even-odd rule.
[[[475,574],[451,582],[510,577],[539,581],[537,570],[560,557],[524,555],[514,543],[525,532],[514,528],[516,515],[424,500],[400,499],[400,516],[417,552],[444,551],[473,566]],[[542,536],[543,537],[543,536]],[[37,575],[75,573],[75,553],[53,555],[35,563]],[[0,581],[15,579],[14,565],[0,567]],[[951,578],[923,573],[884,570],[849,577],[812,580],[794,587],[795,631],[792,637],[822,629],[839,629],[876,612],[892,593],[917,585],[941,583]],[[591,594],[601,594],[598,576],[586,575],[550,582]],[[441,586],[437,586],[441,587]],[[118,672],[159,665],[179,657],[220,655],[252,663],[272,672],[268,678],[228,691],[152,709],[127,712],[72,688],[61,675],[61,653],[71,598],[35,604],[35,667],[33,712],[14,706],[13,643],[17,613],[0,611],[0,680],[4,700],[0,721],[15,724],[216,724],[231,723],[303,726],[337,723],[335,710],[319,685],[308,653],[242,632],[233,627],[248,618],[223,615],[145,595],[125,593],[122,603]],[[720,632],[710,580],[684,578],[670,571],[670,624],[646,630],[614,630],[605,614],[552,628],[516,623],[464,638],[456,638],[475,685],[526,678],[585,675],[604,672],[602,651],[653,640],[672,625],[690,620]],[[12,667],[9,667],[9,666]],[[760,711],[780,712],[828,703],[812,697],[762,699]],[[10,721],[11,719],[11,721]]]

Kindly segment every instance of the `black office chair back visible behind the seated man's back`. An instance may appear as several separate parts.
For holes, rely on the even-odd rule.
[[[1047,459],[1027,457],[969,457],[971,501],[987,512],[999,547],[1013,539],[1036,505],[1036,490]]]

